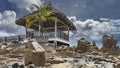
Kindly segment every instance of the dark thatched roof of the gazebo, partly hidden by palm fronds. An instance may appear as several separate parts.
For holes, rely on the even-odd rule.
[[[58,23],[58,26],[67,25],[69,27],[69,30],[76,30],[76,27],[73,25],[73,23],[62,12],[60,12],[57,9],[53,8],[51,4],[48,4],[46,9],[47,10],[54,10],[55,13],[52,16],[57,17],[58,19],[60,19],[61,21],[64,22],[64,24]],[[30,13],[30,14],[37,14],[37,13],[38,13],[38,11],[34,11],[34,12]],[[28,16],[30,14],[27,14],[26,16]],[[26,16],[16,20],[16,24],[25,26],[25,17]],[[38,30],[38,26],[36,26],[36,25],[32,25],[30,28]],[[52,22],[52,21],[44,22],[43,28],[49,28],[49,27],[54,27],[54,22]],[[65,31],[66,27],[60,27],[60,29]],[[50,30],[54,30],[54,28],[50,29]]]

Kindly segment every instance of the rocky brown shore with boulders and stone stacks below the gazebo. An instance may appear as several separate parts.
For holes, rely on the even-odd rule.
[[[107,48],[107,38],[113,40],[104,37],[101,49],[84,38],[74,47],[55,48],[37,41],[0,43],[0,68],[120,68],[116,41]]]

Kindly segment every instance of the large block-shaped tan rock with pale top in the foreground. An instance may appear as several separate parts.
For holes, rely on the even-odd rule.
[[[38,42],[32,42],[25,52],[25,65],[32,62],[35,66],[44,66],[46,63],[45,50]]]

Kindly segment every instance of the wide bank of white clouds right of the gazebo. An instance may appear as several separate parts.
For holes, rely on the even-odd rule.
[[[120,20],[110,20],[101,18],[101,21],[87,19],[85,21],[77,20],[75,16],[68,17],[76,26],[77,31],[71,37],[80,39],[84,37],[88,40],[101,40],[103,34],[117,34],[120,32]]]

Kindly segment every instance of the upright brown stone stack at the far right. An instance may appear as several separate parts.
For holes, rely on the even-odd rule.
[[[113,35],[103,35],[102,44],[103,47],[101,50],[108,54],[119,54],[120,50],[117,46],[117,39]]]

